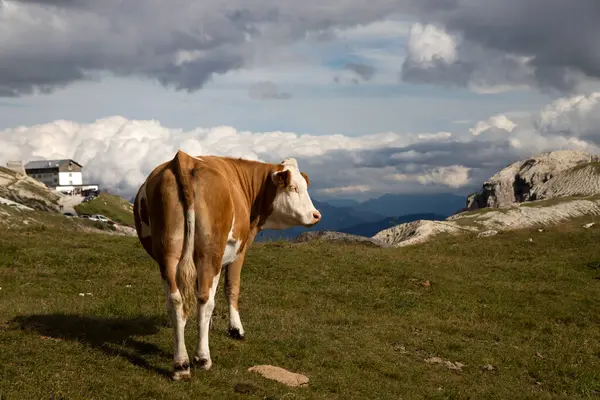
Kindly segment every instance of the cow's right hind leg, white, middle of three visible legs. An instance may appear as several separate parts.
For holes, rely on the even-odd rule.
[[[216,274],[210,273],[210,271],[202,271],[198,278],[198,348],[194,361],[203,370],[208,370],[212,366],[208,334],[220,276],[220,270]]]

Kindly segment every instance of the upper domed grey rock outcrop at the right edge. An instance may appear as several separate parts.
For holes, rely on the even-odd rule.
[[[600,157],[561,150],[542,153],[504,168],[467,199],[467,210],[509,207],[557,196],[600,193]]]

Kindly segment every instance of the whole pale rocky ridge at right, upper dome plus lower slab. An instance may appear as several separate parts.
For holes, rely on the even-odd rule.
[[[480,192],[469,196],[464,212],[445,221],[401,224],[377,233],[373,239],[402,247],[444,233],[471,232],[485,238],[585,215],[600,215],[600,157],[554,151],[511,164],[492,176]]]

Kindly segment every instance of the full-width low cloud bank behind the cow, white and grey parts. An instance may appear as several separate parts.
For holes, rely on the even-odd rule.
[[[229,126],[181,130],[122,117],[89,124],[59,120],[0,131],[0,162],[73,158],[84,165],[86,180],[130,197],[156,165],[181,148],[194,155],[268,162],[296,157],[311,177],[312,190],[325,198],[465,194],[507,164],[533,154],[557,149],[600,153],[598,115],[600,93],[562,98],[529,116],[509,119],[497,114],[470,132],[463,128],[457,133],[350,137],[249,132]]]

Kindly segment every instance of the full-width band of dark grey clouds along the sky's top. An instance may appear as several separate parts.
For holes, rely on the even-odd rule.
[[[5,0],[0,2],[0,95],[45,92],[103,71],[198,90],[307,33],[326,35],[402,14],[464,38],[458,59],[402,74],[437,84],[537,84],[568,91],[600,77],[597,0]],[[520,65],[506,54],[530,56]],[[511,61],[512,60],[512,61]],[[414,61],[414,60],[413,60]],[[350,68],[369,79],[370,70]]]

